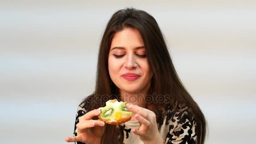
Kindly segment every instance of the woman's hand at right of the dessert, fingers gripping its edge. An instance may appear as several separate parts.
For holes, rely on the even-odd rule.
[[[144,144],[163,144],[163,139],[157,128],[155,113],[133,104],[126,104],[126,107],[135,113],[135,118],[141,122],[139,130],[132,129],[133,133],[139,135]]]

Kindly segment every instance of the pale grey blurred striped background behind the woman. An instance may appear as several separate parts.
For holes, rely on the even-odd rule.
[[[255,0],[1,0],[0,143],[66,144],[118,9],[152,14],[208,120],[206,144],[255,142]]]

